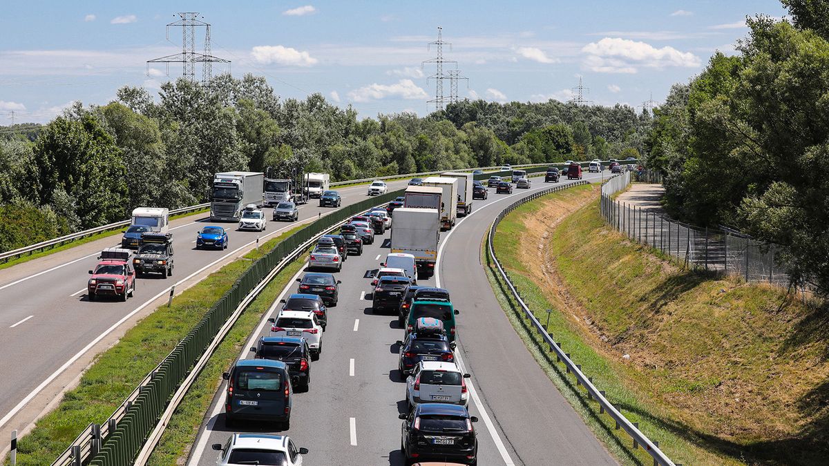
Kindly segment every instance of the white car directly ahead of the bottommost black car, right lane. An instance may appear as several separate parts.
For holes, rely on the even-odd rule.
[[[468,407],[469,392],[464,374],[454,362],[421,361],[406,378],[406,406],[420,403],[450,403]]]

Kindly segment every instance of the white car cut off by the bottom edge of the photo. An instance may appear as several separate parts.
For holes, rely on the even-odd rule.
[[[216,464],[280,464],[301,466],[308,449],[297,448],[288,435],[232,434],[224,445],[213,444],[220,451]]]

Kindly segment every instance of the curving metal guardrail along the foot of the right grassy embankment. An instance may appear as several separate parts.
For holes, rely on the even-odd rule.
[[[515,297],[518,304],[521,306],[521,309],[524,311],[524,315],[526,318],[530,319],[533,328],[536,328],[536,331],[541,333],[541,337],[550,347],[550,351],[555,352],[555,358],[559,362],[563,362],[568,373],[572,373],[576,378],[576,383],[580,386],[584,386],[587,390],[588,396],[599,402],[599,412],[600,413],[607,413],[613,420],[616,421],[616,428],[622,428],[628,435],[631,436],[633,439],[633,448],[636,449],[638,446],[642,446],[648,454],[650,454],[653,458],[653,464],[657,465],[660,464],[662,466],[681,466],[681,464],[674,464],[670,458],[667,457],[665,453],[659,449],[659,442],[652,441],[648,439],[645,434],[642,434],[642,431],[638,429],[638,423],[633,423],[628,418],[624,417],[624,415],[615,407],[613,404],[605,398],[604,391],[600,391],[596,386],[593,385],[593,381],[590,377],[585,376],[584,372],[581,371],[581,366],[573,362],[570,359],[570,353],[564,352],[561,349],[561,342],[555,342],[555,339],[550,333],[547,333],[547,329],[545,328],[544,324],[542,324],[532,313],[531,309],[527,307],[524,300],[521,299],[521,294],[518,293],[515,285],[512,284],[510,280],[509,274],[507,271],[503,269],[501,263],[498,262],[498,258],[495,255],[495,247],[492,243],[492,238],[495,236],[495,230],[497,229],[498,224],[502,221],[502,219],[507,216],[511,211],[515,210],[516,207],[525,204],[526,202],[533,201],[538,197],[545,196],[546,194],[550,194],[551,192],[558,192],[563,191],[569,187],[579,186],[582,184],[589,184],[586,181],[579,181],[574,182],[571,184],[551,187],[549,189],[545,189],[540,192],[536,192],[531,196],[524,197],[519,201],[513,202],[510,206],[507,206],[501,213],[498,214],[495,221],[492,222],[492,226],[489,228],[489,233],[487,235],[487,250],[489,252],[489,256],[492,258],[492,262],[496,265],[498,272],[501,274],[502,279],[507,283],[507,286],[512,292],[512,295]]]

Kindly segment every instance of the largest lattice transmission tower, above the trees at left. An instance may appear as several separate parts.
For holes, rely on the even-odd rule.
[[[213,77],[214,63],[227,63],[230,68],[230,60],[211,55],[210,48],[210,24],[201,21],[197,12],[180,12],[178,21],[167,24],[167,40],[170,38],[170,27],[182,28],[182,53],[162,56],[147,61],[147,69],[150,63],[164,63],[167,66],[167,75],[170,74],[170,63],[182,64],[182,77],[191,82],[196,82],[196,63],[201,63],[201,84],[207,85]],[[204,53],[196,52],[196,27],[205,27]]]

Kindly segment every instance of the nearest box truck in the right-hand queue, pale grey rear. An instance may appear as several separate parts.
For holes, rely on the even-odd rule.
[[[391,252],[414,255],[419,278],[434,274],[440,223],[437,209],[398,207],[391,217]]]

